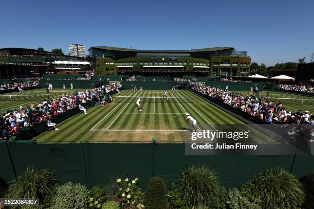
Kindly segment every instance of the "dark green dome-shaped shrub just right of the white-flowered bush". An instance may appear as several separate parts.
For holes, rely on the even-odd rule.
[[[147,209],[168,208],[166,183],[159,177],[150,178],[144,195],[144,205]]]

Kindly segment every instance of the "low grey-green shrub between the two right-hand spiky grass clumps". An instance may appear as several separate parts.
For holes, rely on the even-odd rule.
[[[230,209],[262,209],[260,199],[248,198],[243,191],[235,188],[229,190],[226,203]]]

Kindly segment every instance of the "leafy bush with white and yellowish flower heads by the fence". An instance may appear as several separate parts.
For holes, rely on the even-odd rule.
[[[121,208],[133,208],[136,205],[142,207],[143,202],[143,193],[138,185],[138,178],[129,182],[129,179],[126,178],[122,181],[120,178],[116,180],[119,191],[118,198],[120,198],[120,207]]]

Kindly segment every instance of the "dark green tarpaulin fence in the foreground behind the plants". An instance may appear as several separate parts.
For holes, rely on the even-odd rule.
[[[157,139],[158,140],[158,139]],[[12,161],[10,160],[10,155]],[[34,164],[58,173],[61,183],[88,187],[106,184],[110,177],[138,177],[141,187],[155,176],[169,186],[189,165],[207,165],[218,172],[227,188],[238,187],[267,167],[283,166],[298,177],[314,173],[314,155],[185,155],[185,144],[162,143],[1,143],[0,177],[9,182]],[[11,163],[12,162],[12,163]]]

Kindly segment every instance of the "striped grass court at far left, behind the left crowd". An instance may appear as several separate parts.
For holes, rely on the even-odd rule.
[[[75,92],[75,90],[80,89],[68,89],[67,91],[64,91],[63,89],[54,89],[50,90],[49,94],[52,98],[56,98],[57,96],[60,96],[62,94],[70,94]],[[43,96],[16,96],[12,97],[12,101],[10,100],[9,96],[3,96],[3,95],[41,95]],[[47,99],[47,92],[46,89],[33,89],[33,90],[27,90],[24,92],[11,92],[11,93],[5,93],[0,95],[0,113],[4,113],[7,110],[12,110],[12,108],[18,109],[19,106],[23,106],[24,108],[33,104],[35,106],[38,105],[39,102],[42,102],[43,99]]]

